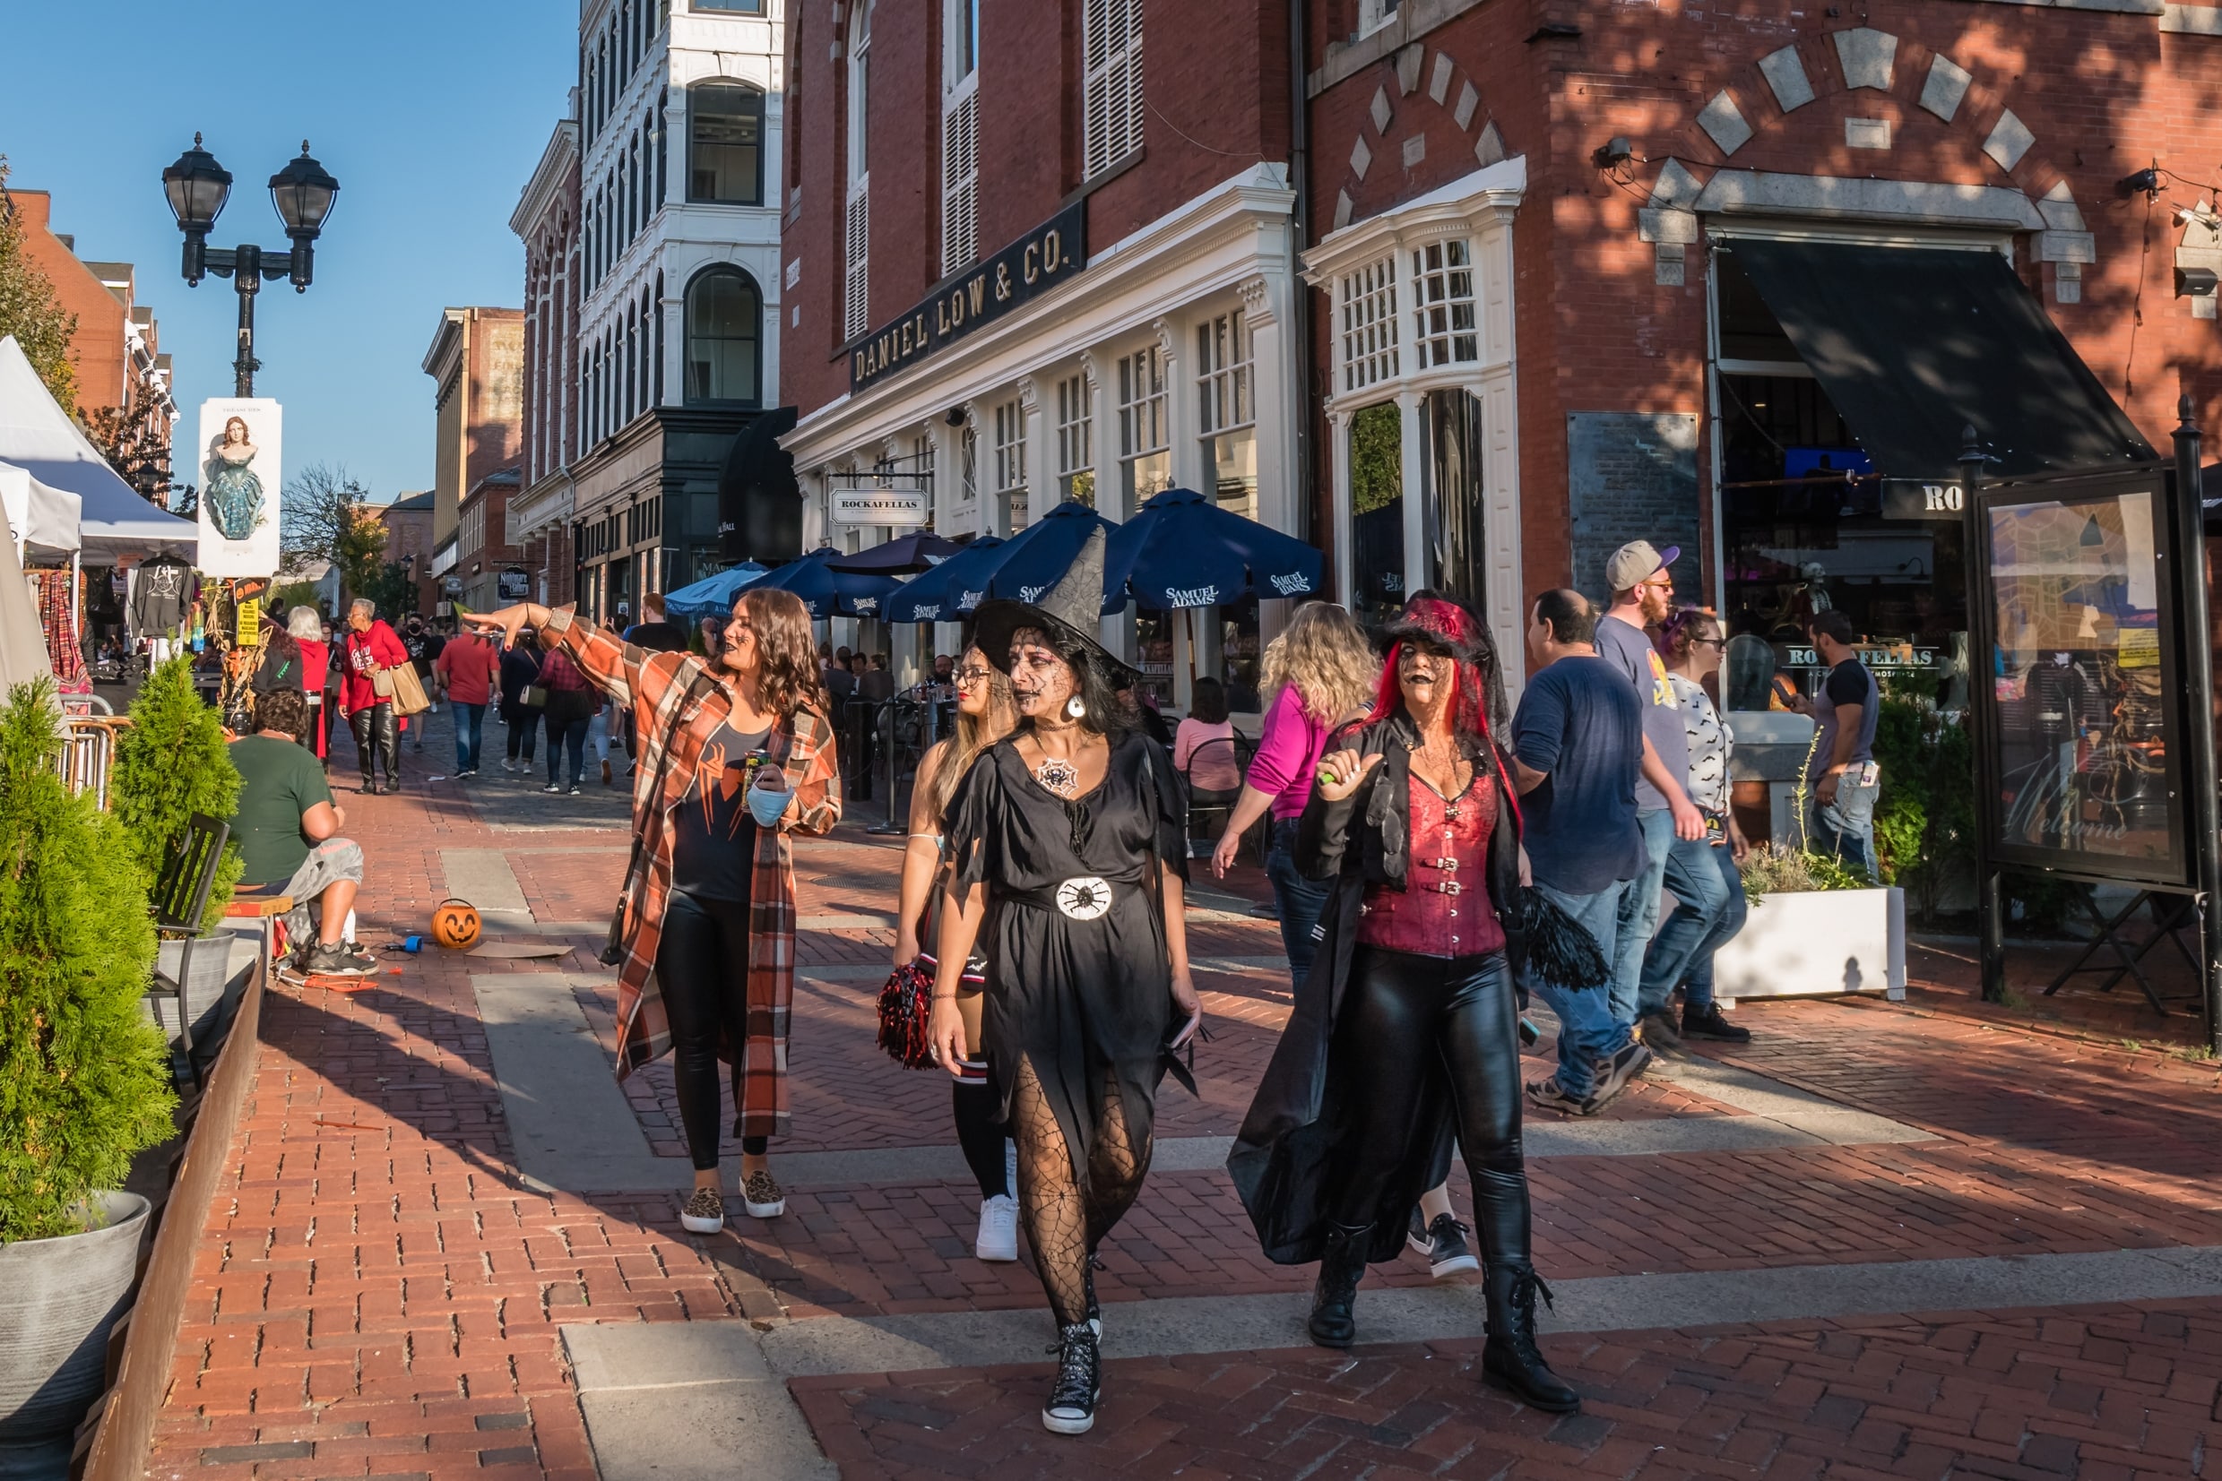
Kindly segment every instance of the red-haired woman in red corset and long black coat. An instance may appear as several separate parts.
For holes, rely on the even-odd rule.
[[[1320,1261],[1311,1339],[1347,1348],[1367,1261],[1404,1248],[1455,1135],[1487,1266],[1482,1368],[1567,1412],[1580,1397],[1535,1348],[1520,808],[1493,739],[1507,726],[1498,655],[1473,613],[1429,593],[1384,637],[1373,711],[1327,742],[1298,826],[1298,868],[1335,893],[1229,1168],[1267,1255]]]

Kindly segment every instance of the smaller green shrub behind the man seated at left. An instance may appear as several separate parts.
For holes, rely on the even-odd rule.
[[[240,770],[224,746],[224,722],[193,688],[193,659],[178,655],[156,664],[131,699],[131,724],[116,735],[116,770],[109,806],[131,835],[140,884],[153,890],[162,877],[162,855],[184,833],[184,819],[207,813],[222,822],[240,804]],[[216,930],[240,881],[240,850],[224,846],[216,866],[202,930]]]

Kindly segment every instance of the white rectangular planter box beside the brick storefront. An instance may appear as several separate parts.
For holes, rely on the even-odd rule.
[[[1766,895],[1713,955],[1724,999],[1904,990],[1906,897],[1895,888]]]

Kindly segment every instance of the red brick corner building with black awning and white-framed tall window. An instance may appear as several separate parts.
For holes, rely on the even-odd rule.
[[[2124,455],[2106,402],[2162,451],[2180,391],[2222,424],[2218,9],[1313,0],[1309,27],[1315,528],[1360,604],[1449,584],[1518,646],[1531,593],[1602,595],[1642,533],[1749,631],[1826,602],[1940,662],[1960,524],[1900,488],[1955,482],[1935,429],[2033,471]],[[1911,311],[1978,300],[1989,324]],[[1984,364],[2058,395],[2000,409]]]

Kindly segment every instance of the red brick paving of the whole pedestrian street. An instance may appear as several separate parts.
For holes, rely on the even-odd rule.
[[[593,953],[631,835],[622,775],[602,788],[589,755],[582,797],[547,797],[542,773],[498,768],[500,726],[489,722],[487,739],[493,770],[456,784],[436,719],[422,757],[404,753],[404,790],[376,799],[351,793],[340,742],[333,777],[371,873],[360,935],[387,970],[353,993],[282,990],[264,1008],[156,1474],[584,1479],[600,1459],[618,1481],[649,1474],[664,1445],[673,1463],[658,1474],[709,1474],[678,1459],[687,1423],[642,1441],[598,1408],[578,1323],[651,1339],[740,1334],[769,1352],[818,1332],[978,1321],[1018,1323],[1009,1330],[1022,1328],[1027,1346],[1004,1348],[1011,1361],[813,1359],[755,1374],[778,1392],[735,1399],[731,1412],[773,1419],[715,1432],[720,1474],[829,1474],[780,1450],[775,1414],[793,1417],[787,1441],[800,1437],[847,1477],[2184,1477],[2218,1465],[2213,1064],[2155,1052],[2155,1032],[2124,1046],[2133,1030],[2115,1024],[2135,1015],[2111,999],[2044,1024],[1978,1006],[1949,955],[1915,957],[1924,981],[1906,1006],[1746,1004],[1755,1041],[1713,1052],[1744,1079],[1764,1077],[1751,1084],[1866,1112],[1902,1139],[1706,1146],[1755,1112],[1702,1077],[1644,1081],[1604,1128],[1535,1126],[1549,1152],[1531,1163],[1540,1266],[1569,1290],[1607,1292],[1602,1317],[1598,1301],[1562,1301],[1593,1314],[1547,1337],[1553,1363],[1589,1394],[1580,1417],[1535,1414],[1480,1386],[1478,1328],[1395,1339],[1398,1301],[1440,1294],[1418,1261],[1375,1268],[1360,1299],[1360,1319],[1373,1312],[1391,1341],[1331,1354],[1291,1346],[1300,1332],[1284,1321],[1273,1330],[1287,1337],[1253,1350],[1222,1350],[1224,1332],[1182,1346],[1180,1310],[1251,1299],[1300,1314],[1311,1277],[1258,1255],[1209,1141],[1233,1132],[1289,1008],[1278,930],[1249,906],[1264,897],[1255,870],[1200,899],[1200,986],[1218,1021],[1198,1059],[1204,1092],[1167,1088],[1164,1168],[1107,1246],[1113,1334],[1133,1314],[1129,1332],[1158,1337],[1113,1337],[1095,1432],[1049,1437],[1038,1421],[1047,1359],[1018,1361],[1049,1339],[1047,1317],[1031,1317],[1040,1288],[1029,1261],[971,1257],[969,1181],[915,1170],[804,1179],[784,1219],[744,1219],[733,1199],[727,1235],[689,1237],[662,1066],[611,1104],[669,1166],[669,1190],[551,1190],[520,1175],[482,988],[544,988],[578,1015],[573,1037],[607,1048],[613,990]],[[775,1146],[775,1166],[800,1152],[900,1159],[951,1141],[942,1081],[871,1046],[895,859],[893,842],[858,826],[798,848],[795,1135]],[[389,948],[422,930],[458,881],[522,897],[522,910],[489,906],[491,941],[562,955]],[[609,1095],[607,1081],[578,1086],[589,1090]],[[1589,1155],[1580,1141],[1669,1135],[1695,1135],[1695,1150],[1602,1155],[1595,1141]],[[1195,1155],[1182,1161],[1175,1148]],[[1464,1179],[1453,1181],[1464,1203]],[[2078,1275],[2095,1268],[2078,1261],[2120,1250],[2202,1275],[2151,1299]],[[1858,1286],[1940,1268],[1929,1261],[1991,1261],[1991,1294],[1971,1310],[1935,1299],[1900,1312],[1800,1297],[1806,1306],[1780,1310],[1802,1314],[1780,1321],[1647,1326],[1644,1292],[1675,1279],[1726,1272],[1791,1290],[1851,1268]],[[687,1390],[671,1392],[671,1414],[693,1412]]]

